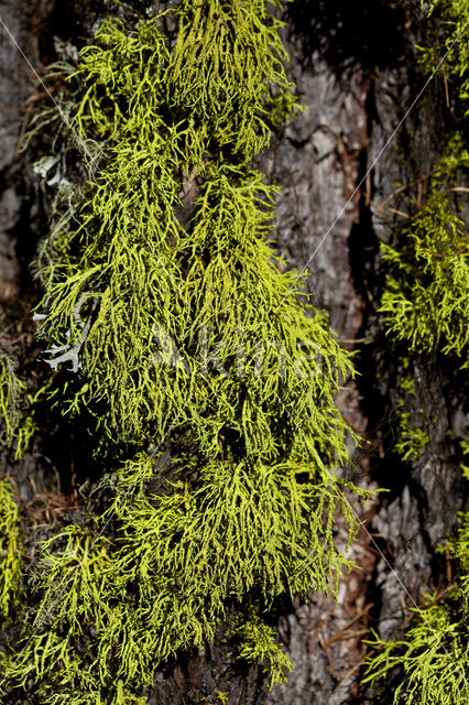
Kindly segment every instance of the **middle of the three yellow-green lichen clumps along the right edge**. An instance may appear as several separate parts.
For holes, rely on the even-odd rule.
[[[413,351],[440,350],[466,366],[469,332],[469,251],[466,224],[454,205],[469,153],[460,135],[449,143],[429,196],[397,246],[382,243],[389,267],[380,312],[389,335]]]

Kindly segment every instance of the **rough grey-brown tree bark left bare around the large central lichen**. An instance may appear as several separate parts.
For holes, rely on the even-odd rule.
[[[90,35],[95,10],[80,3],[0,2],[2,21],[39,73],[53,57],[52,36],[81,43],[83,35]],[[436,364],[422,370],[421,393],[437,416],[430,453],[413,465],[384,454],[392,441],[395,365],[391,344],[375,326],[378,241],[389,237],[399,221],[395,210],[403,207],[399,198],[410,196],[408,192],[392,196],[395,183],[410,184],[425,173],[432,133],[414,142],[405,160],[395,138],[380,152],[419,88],[414,48],[419,19],[403,2],[297,0],[287,22],[290,73],[308,108],[275,137],[273,148],[260,160],[269,177],[283,186],[279,249],[298,271],[307,268],[307,286],[315,292],[316,305],[329,311],[343,345],[358,350],[361,377],[348,381],[340,406],[370,445],[355,454],[349,471],[363,486],[391,491],[363,516],[367,530],[361,530],[352,550],[360,570],[342,583],[338,604],[313,596],[306,606],[277,606],[281,634],[295,664],[287,686],[268,693],[260,670],[222,672],[226,647],[216,641],[205,653],[187,655],[159,673],[152,697],[159,704],[215,703],[217,691],[228,692],[230,704],[243,705],[374,702],[372,692],[363,693],[359,686],[366,652],[360,640],[369,636],[370,623],[389,636],[402,623],[404,607],[414,600],[418,604],[423,592],[438,584],[445,566],[435,545],[451,529],[463,502],[459,471],[448,460],[445,446],[446,431],[457,429],[462,417],[447,370]],[[31,69],[4,28],[0,33],[0,300],[4,306],[0,341],[21,355],[28,346],[32,349],[33,326],[26,313],[34,303],[34,286],[28,260],[44,223],[31,165],[15,154],[25,100],[34,91]],[[438,100],[438,87],[430,90]],[[400,129],[401,144],[412,137],[417,115],[411,115]],[[428,121],[422,113],[419,119]],[[67,443],[69,438],[64,438],[64,447]],[[55,449],[55,456],[59,454]],[[45,456],[41,446],[21,463],[2,458],[3,469],[19,487],[24,530],[34,539],[40,523],[57,521],[76,501],[73,459],[62,458],[57,469]]]

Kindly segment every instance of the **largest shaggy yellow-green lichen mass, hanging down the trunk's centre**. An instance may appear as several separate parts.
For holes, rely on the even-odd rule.
[[[108,19],[80,55],[78,143],[105,149],[42,246],[40,336],[53,403],[90,414],[98,457],[106,438],[127,459],[96,525],[43,546],[36,616],[4,657],[9,686],[33,683],[44,705],[144,703],[155,669],[233,609],[239,658],[277,683],[290,661],[262,612],[337,596],[352,565],[336,513],[347,550],[343,492],[367,494],[335,474],[350,432],[334,401],[351,361],[282,271],[266,239],[277,189],[251,166],[296,105],[268,4]]]

